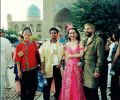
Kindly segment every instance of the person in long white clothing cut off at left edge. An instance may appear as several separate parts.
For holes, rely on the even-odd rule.
[[[3,97],[7,68],[13,65],[12,45],[8,39],[2,37],[3,33],[0,29],[0,99]]]

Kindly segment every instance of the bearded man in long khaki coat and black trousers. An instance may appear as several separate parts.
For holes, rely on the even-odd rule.
[[[104,59],[103,40],[95,35],[94,25],[87,23],[84,31],[87,38],[84,41],[84,90],[86,100],[99,100],[98,85]]]

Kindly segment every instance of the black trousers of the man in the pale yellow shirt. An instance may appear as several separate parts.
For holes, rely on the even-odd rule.
[[[54,78],[55,82],[55,98],[56,100],[59,99],[60,89],[61,89],[61,83],[62,83],[62,76],[60,72],[60,68],[56,68],[56,66],[53,66],[53,77],[52,78],[46,78],[48,85],[44,87],[43,89],[43,98],[44,100],[50,100],[50,89],[52,80]]]

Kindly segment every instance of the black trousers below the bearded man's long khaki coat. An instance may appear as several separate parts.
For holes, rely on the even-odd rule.
[[[99,100],[98,89],[84,87],[86,100]]]

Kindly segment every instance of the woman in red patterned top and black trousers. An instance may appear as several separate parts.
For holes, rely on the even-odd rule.
[[[39,55],[37,44],[31,41],[31,29],[25,27],[22,35],[24,41],[16,47],[16,62],[18,77],[21,82],[21,100],[34,100],[37,87],[37,57]]]

